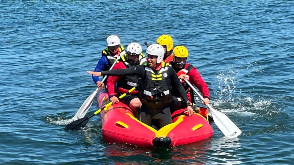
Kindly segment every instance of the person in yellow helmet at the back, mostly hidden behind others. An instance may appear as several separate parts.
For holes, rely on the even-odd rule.
[[[171,63],[171,61],[173,61],[173,38],[171,38],[171,36],[169,35],[164,34],[162,36],[159,36],[156,42],[164,48],[164,62]]]

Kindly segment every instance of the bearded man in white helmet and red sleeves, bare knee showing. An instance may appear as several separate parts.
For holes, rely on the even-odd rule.
[[[142,47],[138,43],[130,43],[126,48],[126,54],[121,55],[121,61],[114,65],[115,69],[132,68],[137,65],[143,65],[146,63],[145,55],[142,53]],[[115,90],[115,84],[117,87]],[[138,98],[138,90],[132,91],[129,95],[126,95],[121,100],[118,100],[118,96],[128,92],[133,87],[136,87],[141,83],[141,78],[138,75],[128,76],[109,76],[107,79],[107,91],[110,101],[115,104],[119,101],[128,105],[133,112],[138,114],[141,108],[141,102]],[[117,93],[117,95],[116,95]]]

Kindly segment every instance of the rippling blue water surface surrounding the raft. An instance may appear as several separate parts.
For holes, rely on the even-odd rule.
[[[294,1],[0,0],[0,164],[293,164]],[[243,133],[174,148],[107,144],[100,117],[65,132],[96,89],[109,35],[169,34]],[[200,99],[196,101],[201,104]],[[89,112],[94,112],[92,105]]]

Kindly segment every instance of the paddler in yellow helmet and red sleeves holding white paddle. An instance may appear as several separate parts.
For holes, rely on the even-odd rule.
[[[208,86],[202,79],[198,70],[193,67],[193,65],[187,63],[187,58],[188,49],[184,46],[176,46],[173,49],[173,61],[171,62],[171,67],[176,71],[178,78],[181,80],[191,105],[195,105],[194,93],[191,87],[183,79],[189,80],[192,85],[195,85],[199,89],[204,98],[202,103],[208,105],[210,97]],[[172,101],[175,110],[185,107],[185,102],[181,101],[177,93],[173,93]]]

